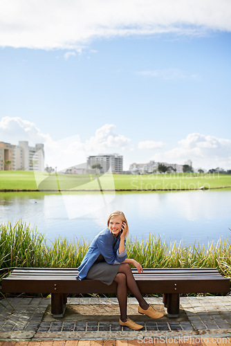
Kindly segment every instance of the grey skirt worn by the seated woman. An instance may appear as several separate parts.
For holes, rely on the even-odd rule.
[[[100,280],[104,284],[112,284],[120,264],[108,264],[107,262],[94,263],[89,269],[85,279]]]

